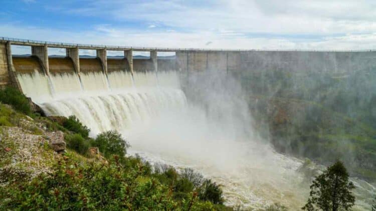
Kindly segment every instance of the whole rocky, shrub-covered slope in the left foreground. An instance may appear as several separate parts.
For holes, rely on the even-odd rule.
[[[220,185],[200,173],[126,156],[129,144],[116,131],[90,138],[74,116],[33,117],[0,103],[0,209],[232,210]],[[49,145],[58,130],[63,154]]]

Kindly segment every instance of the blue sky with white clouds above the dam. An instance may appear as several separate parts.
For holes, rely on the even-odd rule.
[[[376,49],[375,20],[376,0],[2,0],[0,36],[145,47],[356,50]]]

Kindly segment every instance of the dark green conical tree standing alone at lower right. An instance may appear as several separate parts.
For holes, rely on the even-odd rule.
[[[348,173],[341,161],[336,161],[312,182],[311,191],[303,210],[337,211],[348,210],[354,205],[355,197],[351,189],[355,188],[348,181]]]

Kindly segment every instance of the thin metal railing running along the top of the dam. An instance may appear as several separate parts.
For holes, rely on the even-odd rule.
[[[136,51],[312,51],[312,52],[368,52],[376,49],[231,49],[231,48],[168,48],[168,47],[139,47],[139,46],[121,46],[121,45],[102,45],[102,44],[77,44],[67,42],[40,41],[33,39],[19,39],[11,37],[0,37],[0,40],[23,43],[25,45],[45,44],[61,47],[81,47],[81,48],[110,48],[110,50],[136,50]]]

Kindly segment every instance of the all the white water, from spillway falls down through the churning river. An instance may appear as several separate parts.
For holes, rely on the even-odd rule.
[[[297,210],[308,197],[309,184],[298,172],[301,160],[276,153],[257,136],[239,132],[244,122],[232,112],[221,112],[222,107],[231,108],[228,100],[216,100],[221,106],[213,109],[187,100],[177,71],[133,76],[124,71],[81,72],[80,76],[35,72],[19,74],[18,79],[25,94],[47,115],[74,114],[90,127],[91,136],[116,129],[131,144],[129,153],[151,163],[192,167],[222,184],[228,205],[248,210],[279,202]],[[226,115],[213,118],[208,109]],[[352,180],[357,186],[355,209],[369,209],[374,186]]]

